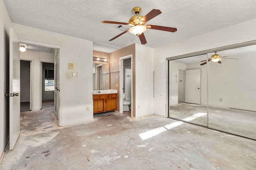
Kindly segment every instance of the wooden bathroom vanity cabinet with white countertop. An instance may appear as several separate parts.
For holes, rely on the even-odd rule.
[[[93,113],[116,110],[117,90],[95,90],[93,93]]]

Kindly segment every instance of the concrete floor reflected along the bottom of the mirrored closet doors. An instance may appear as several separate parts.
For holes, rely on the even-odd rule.
[[[198,104],[180,103],[170,106],[170,117],[186,119],[198,113],[207,113],[207,107]],[[189,120],[191,123],[207,126],[207,115]],[[238,109],[209,107],[208,127],[256,139],[256,112]]]

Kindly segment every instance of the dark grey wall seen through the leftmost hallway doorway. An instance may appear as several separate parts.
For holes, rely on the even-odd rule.
[[[20,102],[30,102],[30,61],[20,61]]]

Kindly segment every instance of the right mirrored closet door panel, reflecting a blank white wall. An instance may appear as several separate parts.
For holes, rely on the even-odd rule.
[[[217,54],[208,62],[209,127],[256,139],[256,45]]]

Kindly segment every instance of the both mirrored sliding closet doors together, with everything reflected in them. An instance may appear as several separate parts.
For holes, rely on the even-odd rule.
[[[256,45],[216,52],[168,61],[169,117],[256,139]]]

